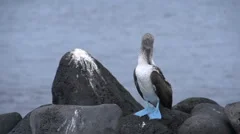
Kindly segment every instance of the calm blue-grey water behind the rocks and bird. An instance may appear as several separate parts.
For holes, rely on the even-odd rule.
[[[61,56],[90,52],[138,100],[132,71],[141,36],[155,36],[155,62],[174,104],[204,96],[240,98],[239,0],[1,0],[0,113],[25,115],[51,103]]]

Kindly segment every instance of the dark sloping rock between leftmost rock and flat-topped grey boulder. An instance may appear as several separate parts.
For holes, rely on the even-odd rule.
[[[30,128],[30,113],[28,113],[8,134],[32,134]]]

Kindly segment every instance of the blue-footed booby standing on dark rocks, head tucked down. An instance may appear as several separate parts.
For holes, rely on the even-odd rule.
[[[153,43],[154,37],[150,33],[142,37],[138,64],[133,75],[137,91],[145,100],[146,106],[134,115],[140,117],[148,115],[149,119],[161,119],[159,105],[172,108],[172,88],[153,61]]]

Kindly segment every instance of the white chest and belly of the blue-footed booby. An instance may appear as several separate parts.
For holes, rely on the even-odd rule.
[[[155,94],[154,86],[151,81],[152,66],[151,65],[138,65],[136,67],[136,76],[139,88],[146,101],[155,102],[158,100]]]

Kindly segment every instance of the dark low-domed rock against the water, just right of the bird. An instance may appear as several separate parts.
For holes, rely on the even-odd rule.
[[[191,110],[197,105],[201,103],[210,103],[210,104],[217,104],[217,102],[210,100],[208,98],[203,97],[191,97],[188,99],[185,99],[175,106],[173,106],[173,109],[179,110],[185,113],[191,113]]]

